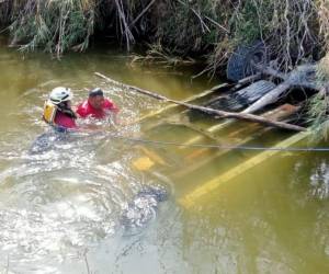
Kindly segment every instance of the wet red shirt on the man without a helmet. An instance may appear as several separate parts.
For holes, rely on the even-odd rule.
[[[118,109],[117,106],[111,102],[109,99],[104,99],[104,103],[102,105],[101,110],[94,109],[88,100],[86,100],[83,103],[79,104],[77,107],[77,113],[80,117],[86,118],[88,116],[93,118],[105,118],[107,112],[114,112],[117,113]]]

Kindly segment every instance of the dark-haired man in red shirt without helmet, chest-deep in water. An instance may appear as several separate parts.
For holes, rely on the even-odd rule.
[[[88,100],[78,104],[77,114],[81,118],[92,117],[104,119],[109,115],[114,114],[114,122],[117,122],[118,107],[110,100],[104,98],[104,92],[100,88],[95,88],[89,92]]]

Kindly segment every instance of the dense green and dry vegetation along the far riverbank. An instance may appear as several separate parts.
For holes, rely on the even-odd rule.
[[[204,59],[211,73],[237,45],[256,39],[265,42],[283,70],[319,60],[329,49],[328,0],[2,0],[0,24],[21,50],[60,57],[111,37],[127,50],[149,45],[135,60]],[[316,124],[327,119],[325,98],[311,103]]]

